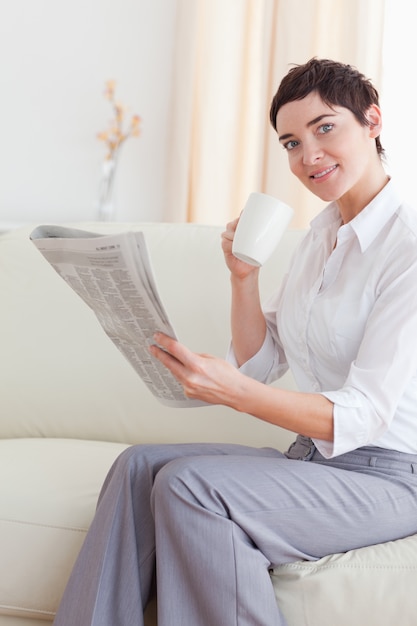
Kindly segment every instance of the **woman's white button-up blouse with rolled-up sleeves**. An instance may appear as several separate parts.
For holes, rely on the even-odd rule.
[[[392,182],[346,225],[335,203],[312,221],[264,313],[264,345],[240,369],[268,383],[290,367],[334,403],[334,441],[314,440],[325,457],[417,453],[417,212]]]

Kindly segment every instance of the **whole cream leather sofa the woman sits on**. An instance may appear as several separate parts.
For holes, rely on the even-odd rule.
[[[75,226],[143,230],[179,338],[193,350],[225,354],[221,227]],[[224,407],[179,410],[156,401],[29,241],[31,228],[0,237],[0,626],[51,623],[100,485],[129,444],[216,440],[284,449],[293,439]],[[263,268],[264,296],[301,236],[288,232]],[[291,387],[290,376],[280,384]],[[417,624],[417,537],[280,567],[272,580],[289,626]]]

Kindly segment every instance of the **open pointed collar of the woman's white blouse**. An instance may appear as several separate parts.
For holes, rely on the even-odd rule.
[[[343,230],[353,231],[358,238],[361,251],[364,252],[397,212],[400,205],[401,198],[390,180],[348,224],[342,226],[337,205],[332,202],[312,220],[311,227],[313,230],[321,230],[338,224]]]

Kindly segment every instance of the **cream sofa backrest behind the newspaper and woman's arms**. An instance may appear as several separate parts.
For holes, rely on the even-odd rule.
[[[179,339],[224,356],[229,276],[222,227],[73,224],[95,232],[142,230],[156,282]],[[126,443],[213,439],[271,444],[276,429],[226,407],[163,406],[102,331],[95,315],[29,240],[32,227],[0,237],[0,438],[68,437]],[[288,232],[262,270],[266,296],[302,233]],[[289,377],[284,381],[292,385]]]

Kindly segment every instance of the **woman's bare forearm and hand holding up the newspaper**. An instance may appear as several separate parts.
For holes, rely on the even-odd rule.
[[[151,353],[189,398],[224,404],[307,437],[333,440],[333,403],[321,394],[270,387],[222,359],[195,354],[162,333],[155,335],[155,341],[158,345],[150,347]]]

